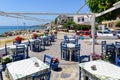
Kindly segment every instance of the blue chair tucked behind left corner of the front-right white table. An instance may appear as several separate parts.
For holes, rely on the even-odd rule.
[[[83,63],[83,62],[89,62],[90,61],[90,55],[82,55],[78,56],[78,63]],[[79,80],[81,80],[81,68],[79,67]],[[88,77],[86,77],[86,80],[88,80]]]

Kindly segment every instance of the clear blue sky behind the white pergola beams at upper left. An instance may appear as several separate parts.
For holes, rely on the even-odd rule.
[[[75,13],[84,4],[84,0],[1,0],[0,11],[4,12],[42,12],[42,13]],[[80,13],[89,12],[85,6]],[[54,20],[56,16],[31,16],[40,19]],[[37,25],[47,21],[31,21],[0,16],[0,26]]]

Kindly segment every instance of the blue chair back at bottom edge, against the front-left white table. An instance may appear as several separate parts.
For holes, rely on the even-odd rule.
[[[32,75],[32,80],[50,80],[51,71]]]

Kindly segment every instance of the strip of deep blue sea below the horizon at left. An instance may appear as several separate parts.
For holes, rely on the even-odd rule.
[[[44,26],[0,26],[0,34],[3,34],[5,32],[9,31],[15,31],[15,30],[35,30],[35,29],[45,29]]]

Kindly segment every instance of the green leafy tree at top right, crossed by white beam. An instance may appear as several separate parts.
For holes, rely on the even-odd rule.
[[[100,13],[105,11],[113,6],[114,3],[118,2],[119,0],[85,0],[88,2],[88,7],[90,11],[93,13]],[[114,10],[109,12],[105,15],[96,18],[97,22],[101,22],[103,20],[112,20],[116,19],[116,17],[120,14],[120,9]]]

